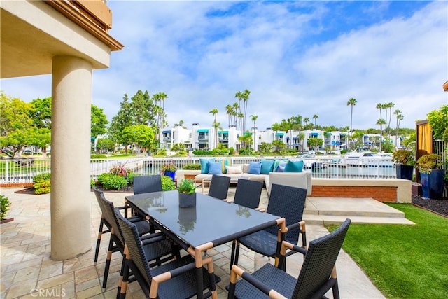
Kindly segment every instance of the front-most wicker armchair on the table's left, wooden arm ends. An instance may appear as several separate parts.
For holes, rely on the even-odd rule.
[[[139,282],[146,298],[192,298],[197,295],[197,270],[192,256],[183,256],[158,267],[149,267],[137,226],[127,221],[118,211],[116,215],[125,237],[126,254],[120,298],[126,296],[130,272]],[[207,298],[212,292],[216,294],[216,282],[221,279],[213,273],[212,258],[205,258],[203,261],[207,265],[207,269],[202,267],[203,291],[209,289],[204,294],[204,298]]]

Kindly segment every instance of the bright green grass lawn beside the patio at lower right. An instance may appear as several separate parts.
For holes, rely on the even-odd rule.
[[[448,298],[448,218],[389,205],[416,225],[351,224],[344,250],[386,298]]]

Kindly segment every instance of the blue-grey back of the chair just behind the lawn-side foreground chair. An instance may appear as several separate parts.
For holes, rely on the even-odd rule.
[[[272,184],[267,213],[286,218],[286,226],[302,221],[307,189]],[[277,235],[278,228],[266,228],[267,232]],[[299,241],[300,228],[286,232],[286,240],[292,244]]]

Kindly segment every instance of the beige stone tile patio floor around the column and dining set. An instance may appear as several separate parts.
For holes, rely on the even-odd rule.
[[[109,234],[102,239],[99,260],[94,265],[94,246],[101,211],[92,197],[92,225],[90,233],[92,249],[70,260],[50,258],[50,195],[18,194],[21,188],[1,188],[8,196],[12,209],[8,218],[14,221],[1,225],[0,246],[0,298],[116,298],[121,256],[113,253],[111,270],[106,290],[102,290],[102,278]],[[232,198],[235,189],[229,190]],[[124,201],[123,193],[106,193],[106,198],[117,205]],[[267,195],[262,195],[260,206],[267,204]],[[309,240],[328,233],[322,225],[307,225]],[[218,298],[227,298],[225,286],[229,281],[231,243],[207,251],[213,256],[215,272],[221,277]],[[239,265],[249,272],[264,263],[273,262],[241,247]],[[288,273],[297,277],[302,256],[288,257]],[[384,298],[351,258],[341,251],[337,260],[339,292],[341,298]],[[329,294],[331,297],[331,294]],[[144,298],[137,282],[129,285],[127,298]]]

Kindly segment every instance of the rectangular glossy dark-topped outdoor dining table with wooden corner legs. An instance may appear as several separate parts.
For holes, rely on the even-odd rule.
[[[128,195],[125,201],[195,258],[198,298],[203,295],[204,251],[273,225],[279,225],[281,242],[286,231],[284,218],[201,193],[197,193],[196,207],[188,208],[179,207],[177,190]],[[278,258],[276,263],[279,263]],[[212,297],[216,296],[216,291],[212,292]]]

